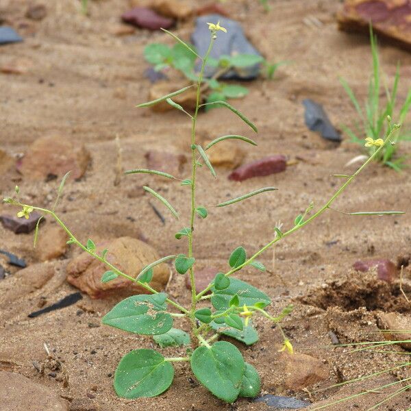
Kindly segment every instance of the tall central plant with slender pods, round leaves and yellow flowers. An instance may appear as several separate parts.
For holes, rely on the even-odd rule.
[[[108,314],[103,317],[103,323],[122,329],[126,332],[135,334],[145,334],[154,336],[155,341],[161,346],[172,345],[188,345],[186,356],[165,358],[161,353],[153,349],[133,349],[125,354],[119,363],[114,375],[114,388],[116,393],[121,397],[138,398],[138,397],[153,397],[164,392],[173,382],[173,362],[190,362],[191,369],[199,382],[203,384],[216,397],[223,399],[229,403],[236,400],[237,397],[255,397],[260,391],[260,377],[258,372],[251,364],[247,364],[242,358],[240,351],[231,343],[226,341],[217,341],[221,334],[225,334],[232,338],[236,338],[246,345],[256,343],[258,334],[253,328],[251,319],[253,316],[261,315],[265,319],[272,321],[277,327],[282,338],[284,339],[283,349],[287,349],[292,353],[292,345],[288,338],[282,332],[280,322],[285,316],[290,314],[292,306],[286,306],[282,312],[273,316],[268,312],[268,307],[271,304],[271,299],[264,292],[257,288],[233,278],[232,275],[241,269],[252,266],[257,272],[264,273],[264,264],[256,260],[264,251],[275,245],[280,240],[297,232],[297,230],[305,227],[326,210],[331,209],[332,203],[340,196],[340,194],[353,182],[360,172],[375,158],[379,152],[384,149],[385,145],[389,144],[393,134],[399,128],[399,125],[389,127],[386,139],[380,147],[378,147],[371,157],[360,166],[353,175],[336,175],[336,177],[344,178],[345,182],[338,188],[334,195],[314,214],[310,215],[314,208],[314,204],[310,203],[303,214],[299,214],[290,229],[282,232],[279,227],[274,227],[273,239],[264,247],[254,252],[251,257],[247,257],[247,253],[243,247],[237,247],[232,251],[228,259],[228,267],[225,272],[216,273],[214,280],[201,292],[196,292],[195,288],[195,257],[193,255],[193,242],[195,239],[195,223],[196,217],[202,221],[208,217],[208,211],[205,207],[197,203],[196,187],[197,173],[199,166],[206,165],[206,168],[216,177],[216,173],[212,164],[208,160],[207,151],[213,145],[227,139],[241,140],[250,145],[256,145],[256,142],[245,136],[226,135],[215,138],[206,147],[201,147],[196,139],[196,126],[199,114],[199,109],[207,105],[221,104],[224,108],[231,110],[236,116],[244,121],[249,127],[257,132],[257,127],[246,116],[240,113],[236,108],[225,101],[212,101],[209,103],[200,102],[201,86],[203,84],[203,72],[208,62],[208,56],[212,50],[214,40],[217,36],[219,25],[210,25],[210,46],[206,55],[201,58],[201,71],[197,81],[197,105],[195,112],[190,114],[173,101],[175,95],[179,95],[190,86],[177,90],[165,95],[160,99],[142,103],[138,107],[148,107],[158,101],[166,101],[173,108],[183,110],[190,118],[192,123],[192,131],[190,138],[190,151],[192,157],[192,169],[189,179],[180,180],[181,185],[190,190],[190,215],[188,216],[188,225],[183,227],[175,234],[177,240],[185,239],[188,243],[187,253],[181,253],[178,256],[171,255],[160,258],[157,261],[145,266],[144,269],[136,276],[130,276],[117,269],[111,264],[107,257],[108,250],[105,249],[102,253],[97,253],[95,243],[88,240],[86,244],[82,244],[73,232],[66,227],[58,214],[55,213],[58,199],[62,192],[66,176],[58,189],[58,197],[54,207],[49,210],[37,206],[22,203],[18,199],[18,188],[16,188],[17,197],[7,197],[5,203],[14,204],[23,208],[21,216],[27,217],[30,212],[37,210],[43,214],[49,214],[57,221],[57,223],[69,235],[69,243],[77,245],[82,250],[90,254],[90,256],[99,260],[108,267],[108,271],[104,273],[102,282],[110,282],[116,277],[122,276],[129,279],[131,282],[139,284],[149,293],[147,295],[134,295],[120,303],[118,303]],[[175,38],[175,36],[173,35]],[[186,45],[182,40],[179,43],[186,47],[191,53],[189,45]],[[198,56],[197,56],[198,57]],[[127,171],[126,174],[150,173],[160,175],[164,178],[178,181],[173,175],[162,171],[135,169]],[[179,219],[179,213],[175,208],[162,197],[158,192],[145,186],[144,189],[153,195],[158,201],[169,209],[171,214]],[[236,197],[229,201],[224,201],[216,205],[217,208],[231,206],[232,204],[244,201],[254,195],[260,195],[262,192],[270,192],[276,190],[274,187],[260,188],[246,195]],[[350,213],[347,213],[350,214]],[[401,212],[360,212],[351,214],[401,214]],[[36,229],[37,236],[38,230]],[[189,275],[191,282],[191,303],[189,307],[184,307],[174,299],[169,298],[164,292],[158,292],[150,286],[153,277],[153,267],[162,262],[173,261],[175,271],[181,275]],[[190,329],[190,336],[182,329],[174,328],[175,319],[185,319]]]

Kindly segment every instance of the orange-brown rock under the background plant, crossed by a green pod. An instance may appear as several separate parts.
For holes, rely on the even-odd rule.
[[[149,100],[160,99],[160,97],[168,95],[175,90],[179,90],[186,85],[187,84],[177,85],[169,82],[157,82],[150,88]],[[182,94],[173,97],[173,101],[179,105],[182,105],[185,110],[195,110],[195,105],[197,103],[197,92],[195,88],[189,88],[185,92],[182,92]],[[160,103],[151,105],[151,110],[162,113],[175,110],[175,108],[163,100],[160,101]]]

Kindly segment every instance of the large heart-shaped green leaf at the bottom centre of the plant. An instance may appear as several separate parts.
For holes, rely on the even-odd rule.
[[[245,362],[237,347],[218,341],[192,353],[191,369],[199,382],[219,399],[232,403],[240,393]]]

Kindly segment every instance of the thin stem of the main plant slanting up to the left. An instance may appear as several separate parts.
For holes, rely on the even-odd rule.
[[[29,205],[23,204],[23,203],[16,203],[16,204],[18,206],[31,207],[31,208],[33,208],[33,210],[38,210],[40,212],[50,214],[53,217],[53,219],[55,219],[55,221],[58,223],[58,225],[60,225],[60,227],[62,227],[62,229],[64,229],[64,231],[69,235],[69,238],[71,238],[71,241],[75,245],[80,247],[83,251],[86,251],[87,253],[90,254],[90,256],[94,257],[96,260],[99,260],[99,262],[102,262],[103,264],[108,266],[117,275],[121,275],[121,277],[129,279],[130,281],[138,284],[139,286],[141,286],[142,288],[145,288],[146,290],[152,292],[153,294],[158,294],[158,291],[155,290],[154,288],[152,288],[151,286],[149,286],[149,284],[144,283],[144,282],[140,282],[137,279],[135,279],[134,277],[131,277],[130,275],[127,275],[126,273],[123,273],[123,271],[120,271],[119,269],[117,269],[113,264],[111,264],[110,262],[105,260],[105,258],[102,258],[97,253],[95,253],[95,251],[91,251],[87,247],[82,245],[82,243],[79,242],[79,240],[77,240],[77,238],[75,238],[74,234],[69,230],[69,228],[66,227],[66,225],[59,219],[59,217],[57,216],[57,214],[55,214],[55,212],[53,212],[51,210],[47,210],[47,208],[29,206]],[[178,308],[178,310],[180,310],[181,312],[184,312],[184,315],[188,314],[188,310],[186,310],[186,308],[184,308],[183,306],[180,306],[179,303],[176,303],[175,301],[173,301],[171,299],[166,299],[166,301],[167,301],[167,303],[171,304],[171,306],[174,306],[175,308]]]

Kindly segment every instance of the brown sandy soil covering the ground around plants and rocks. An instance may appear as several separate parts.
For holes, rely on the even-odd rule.
[[[110,34],[109,29],[116,24],[118,16],[129,8],[126,0],[91,1],[90,18],[79,14],[74,3],[47,1],[47,17],[40,22],[30,21],[26,31],[21,30],[25,42],[1,47],[0,63],[24,58],[31,68],[24,75],[0,75],[0,148],[18,155],[36,138],[45,135],[84,142],[92,154],[92,164],[81,181],[66,185],[60,203],[62,218],[79,239],[91,237],[99,241],[142,234],[160,255],[182,252],[184,244],[173,237],[181,223],[164,212],[166,224],[163,226],[149,206],[148,197],[142,195],[141,186],[148,183],[160,190],[183,215],[188,212],[188,190],[145,176],[125,177],[119,186],[113,184],[116,135],[121,138],[125,169],[144,166],[147,149],[164,147],[170,151],[189,152],[190,125],[183,114],[159,115],[134,108],[136,103],[147,99],[149,88],[149,81],[143,75],[147,64],[142,60],[142,49],[149,42],[169,42],[169,38],[144,30],[125,38]],[[232,18],[242,22],[253,44],[268,60],[292,61],[279,69],[273,82],[258,80],[247,84],[249,96],[233,101],[259,128],[258,147],[247,150],[246,161],[267,153],[282,153],[291,160],[299,156],[308,161],[299,161],[284,173],[242,183],[230,182],[225,169],[217,170],[219,179],[216,181],[208,171],[201,171],[198,198],[199,203],[205,205],[261,186],[276,186],[279,190],[232,208],[210,208],[208,219],[199,222],[196,229],[195,253],[199,268],[224,267],[229,253],[238,245],[249,253],[256,251],[272,238],[276,221],[290,227],[295,216],[305,210],[310,201],[320,206],[339,184],[330,174],[353,171],[352,167],[345,169],[344,165],[360,153],[358,147],[349,142],[336,147],[308,132],[301,101],[312,98],[323,103],[338,127],[352,121],[355,113],[338,76],[349,79],[360,98],[365,98],[371,67],[367,38],[338,32],[335,13],[340,1],[276,0],[272,4],[270,14],[264,14],[254,0],[225,4]],[[5,10],[5,16],[16,21],[23,18],[26,7],[27,2],[21,0],[0,1],[0,10]],[[318,18],[321,27],[304,23],[310,16]],[[187,22],[179,25],[175,32],[188,38],[192,27],[193,23]],[[403,77],[399,99],[403,99],[411,86],[411,56],[385,43],[380,50],[388,84],[393,79],[397,61],[401,61]],[[250,135],[249,129],[235,116],[219,110],[201,114],[201,138],[222,133]],[[401,152],[409,153],[410,149],[403,146]],[[185,171],[188,173],[188,168]],[[406,170],[399,174],[372,165],[338,199],[336,207],[347,211],[398,209],[409,212],[409,173]],[[23,198],[40,206],[51,205],[55,182],[26,182],[18,173],[10,171],[0,176],[1,197],[10,195],[16,183],[21,186]],[[6,206],[0,206],[0,212],[5,210]],[[130,216],[135,219],[133,222],[127,219]],[[332,371],[328,381],[310,390],[388,368],[398,360],[391,354],[349,354],[344,349],[318,347],[331,343],[330,329],[338,334],[341,343],[381,338],[375,333],[377,314],[379,310],[390,310],[390,301],[399,298],[398,287],[384,288],[382,292],[375,279],[352,274],[351,265],[371,256],[393,261],[406,256],[410,252],[410,223],[407,214],[371,218],[329,212],[277,245],[275,270],[272,251],[263,256],[262,262],[274,271],[273,275],[251,270],[240,273],[241,279],[273,298],[271,312],[279,312],[291,301],[296,304],[284,329],[297,351],[314,352],[314,356],[328,364]],[[14,235],[0,227],[0,248],[24,257],[29,264],[37,262],[31,235]],[[70,249],[61,261],[49,263],[56,268],[55,276],[45,287],[32,293],[25,292],[18,273],[0,281],[0,369],[16,371],[41,382],[72,403],[82,399],[96,410],[143,410],[148,406],[155,410],[268,409],[262,403],[246,399],[232,406],[219,401],[192,379],[186,365],[177,366],[173,386],[160,397],[138,401],[117,398],[112,388],[112,373],[121,356],[132,347],[153,347],[153,342],[149,337],[130,336],[100,326],[101,316],[110,310],[113,300],[93,301],[84,296],[76,306],[27,319],[29,312],[38,309],[40,300],[53,302],[75,290],[64,281],[64,266],[66,260],[77,253]],[[335,281],[347,278],[347,287],[352,287],[355,296],[364,288],[357,284],[364,280],[361,277],[369,279],[366,287],[370,290],[370,301],[377,301],[368,307],[369,310],[350,301],[342,303],[340,299],[328,310],[321,308],[324,284],[333,287]],[[409,268],[405,269],[404,277],[410,279]],[[182,303],[188,302],[189,292],[182,276],[174,276],[168,292]],[[318,299],[315,296],[319,296]],[[301,297],[307,297],[309,302],[303,302]],[[401,310],[408,310],[404,303],[399,306]],[[242,353],[260,371],[262,392],[309,399],[307,392],[293,393],[284,388],[277,352],[281,338],[264,321],[258,320],[256,325],[260,341],[253,347],[242,348]],[[62,361],[63,371],[59,371],[59,375],[66,375],[68,384],[64,384],[62,378],[56,381],[47,373],[39,375],[32,366],[32,361],[39,364],[45,361],[43,343],[47,343]],[[312,400],[337,399],[347,393],[394,382],[396,378],[388,374],[368,384],[314,394]],[[366,399],[360,397],[330,409],[365,410],[370,401],[377,402],[381,398],[382,394],[373,393]],[[406,410],[410,402],[410,395],[403,395],[388,401],[381,409]]]

